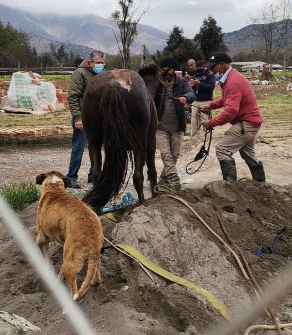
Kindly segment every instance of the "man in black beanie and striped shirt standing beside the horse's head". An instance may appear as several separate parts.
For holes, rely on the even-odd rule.
[[[168,94],[163,97],[158,110],[156,132],[157,146],[164,165],[158,184],[171,187],[173,191],[181,189],[175,164],[186,130],[184,106],[195,100],[193,89],[188,80],[175,75],[177,66],[177,61],[173,57],[163,58],[160,63],[161,71],[167,82]],[[175,97],[177,100],[170,97]]]

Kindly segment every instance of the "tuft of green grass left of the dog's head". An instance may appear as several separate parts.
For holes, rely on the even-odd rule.
[[[21,182],[19,185],[2,186],[0,193],[14,210],[23,209],[25,204],[32,204],[41,196],[40,191],[31,181]]]

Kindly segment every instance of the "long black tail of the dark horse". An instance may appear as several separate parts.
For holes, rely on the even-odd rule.
[[[83,201],[91,206],[102,208],[115,197],[125,183],[128,162],[133,169],[130,150],[137,150],[141,144],[129,124],[128,111],[115,85],[108,85],[100,101],[103,123],[105,161],[102,172]],[[128,180],[127,180],[128,181]]]

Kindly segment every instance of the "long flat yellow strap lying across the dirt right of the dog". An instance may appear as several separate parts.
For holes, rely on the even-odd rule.
[[[142,263],[146,268],[152,270],[153,272],[155,272],[156,274],[158,274],[159,276],[162,276],[166,279],[169,279],[171,281],[174,281],[180,285],[183,285],[185,287],[189,287],[193,290],[195,290],[197,293],[202,294],[207,301],[228,321],[232,322],[233,318],[232,315],[230,313],[230,311],[227,309],[227,307],[225,307],[223,305],[223,303],[221,303],[217,298],[214,297],[214,295],[212,295],[210,292],[208,292],[207,290],[205,290],[203,287],[200,287],[196,284],[193,284],[192,282],[177,277],[173,274],[171,274],[170,272],[162,269],[160,266],[154,264],[153,262],[151,262],[148,258],[146,258],[145,256],[143,256],[142,254],[139,253],[139,251],[137,251],[136,249],[134,249],[133,247],[131,247],[130,245],[125,245],[125,244],[115,244],[118,248],[123,249],[124,251],[126,251],[127,253],[129,253],[131,256],[133,256],[137,261],[139,261],[140,263]]]

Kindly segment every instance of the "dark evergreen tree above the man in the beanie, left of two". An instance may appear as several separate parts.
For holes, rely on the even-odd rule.
[[[174,26],[166,43],[167,46],[164,48],[162,54],[159,52],[156,54],[157,63],[165,56],[173,56],[177,60],[179,67],[185,68],[190,58],[201,58],[201,53],[193,41],[183,36],[182,28],[179,29],[177,26]]]

